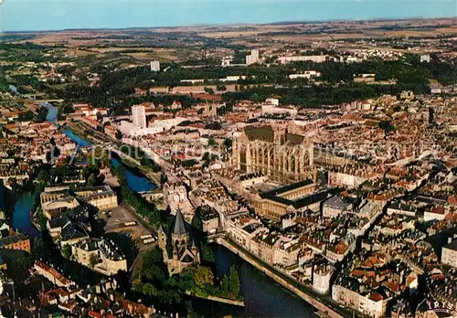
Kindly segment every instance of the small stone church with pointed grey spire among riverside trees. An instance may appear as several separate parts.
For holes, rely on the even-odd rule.
[[[176,212],[175,226],[170,236],[166,235],[161,226],[158,237],[159,248],[164,254],[164,262],[170,276],[200,262],[197,243],[194,238],[189,237],[189,231],[180,209]]]

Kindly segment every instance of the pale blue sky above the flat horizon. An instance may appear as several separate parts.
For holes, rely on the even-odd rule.
[[[441,16],[457,0],[3,0],[0,31]]]

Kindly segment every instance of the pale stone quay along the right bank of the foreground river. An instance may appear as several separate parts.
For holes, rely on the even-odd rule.
[[[223,246],[224,248],[230,250],[231,252],[235,253],[239,256],[242,260],[247,261],[250,265],[254,266],[257,270],[260,270],[262,273],[270,277],[273,281],[278,282],[282,285],[282,287],[288,289],[289,291],[293,292],[297,296],[303,299],[303,301],[308,302],[311,304],[315,309],[317,309],[320,313],[323,313],[325,317],[330,318],[344,318],[345,315],[341,313],[335,312],[334,309],[328,307],[324,304],[324,302],[320,302],[316,300],[311,295],[303,292],[302,290],[298,289],[296,286],[292,285],[289,281],[286,281],[282,276],[278,275],[274,270],[271,270],[264,265],[260,264],[259,260],[255,259],[254,257],[250,256],[246,253],[242,248],[235,245],[232,242],[228,242],[228,240],[224,238],[217,238],[216,242]]]

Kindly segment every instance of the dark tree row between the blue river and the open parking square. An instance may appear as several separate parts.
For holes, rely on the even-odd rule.
[[[114,174],[117,175],[119,184],[122,187],[122,199],[131,205],[139,215],[147,217],[149,222],[158,228],[161,223],[160,210],[153,203],[146,201],[142,196],[138,196],[130,189],[122,164],[117,164],[114,168]]]

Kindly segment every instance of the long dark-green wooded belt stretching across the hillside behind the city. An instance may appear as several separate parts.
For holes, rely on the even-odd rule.
[[[171,104],[175,96],[143,96],[133,97],[135,87],[147,89],[154,85],[182,85],[182,79],[218,79],[229,75],[245,75],[246,80],[239,80],[239,91],[228,92],[224,101],[250,99],[263,101],[271,95],[278,95],[282,103],[292,103],[303,107],[314,107],[322,104],[335,104],[356,99],[367,99],[385,93],[398,94],[401,90],[413,90],[415,93],[428,93],[428,79],[437,79],[443,84],[455,83],[457,66],[452,63],[432,59],[430,63],[420,63],[415,56],[408,56],[405,61],[366,61],[363,63],[314,63],[311,61],[277,65],[267,68],[253,66],[250,68],[222,68],[209,66],[206,68],[184,69],[171,64],[167,72],[151,72],[148,68],[137,69],[101,69],[101,80],[98,87],[88,87],[77,83],[56,89],[60,98],[90,101],[100,106],[112,107],[112,113],[123,114],[125,107],[143,101]],[[314,69],[322,73],[320,80],[328,83],[323,86],[303,86],[303,82],[291,81],[287,75]],[[376,80],[398,80],[397,85],[366,85],[353,83],[354,74],[374,73]],[[341,81],[345,85],[339,84]],[[247,87],[261,83],[281,84],[281,88]],[[285,85],[284,85],[285,84]],[[224,85],[218,85],[223,89]],[[285,86],[285,87],[284,87]],[[246,90],[247,89],[247,90]],[[196,102],[192,97],[180,97],[183,106],[190,107]]]

